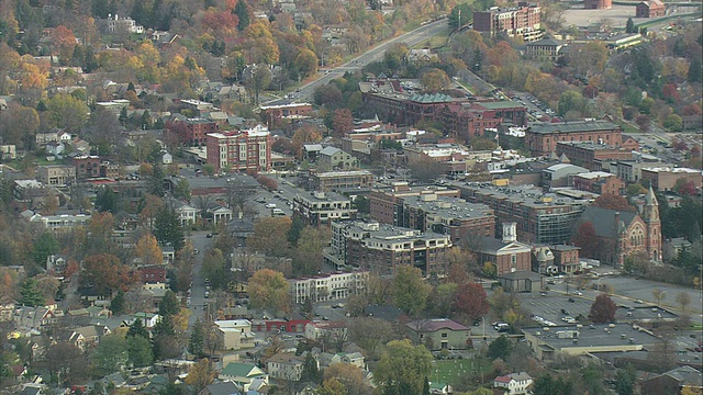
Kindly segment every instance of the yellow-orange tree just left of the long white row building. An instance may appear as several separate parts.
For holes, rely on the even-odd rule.
[[[287,313],[290,309],[289,285],[283,273],[261,269],[249,279],[249,297],[254,308]]]

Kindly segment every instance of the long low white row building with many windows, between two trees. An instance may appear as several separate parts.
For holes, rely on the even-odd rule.
[[[312,278],[288,280],[295,303],[337,301],[366,292],[368,271],[333,272]]]

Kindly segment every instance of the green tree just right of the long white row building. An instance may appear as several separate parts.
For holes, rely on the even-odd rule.
[[[414,316],[425,308],[429,291],[429,285],[425,284],[422,278],[422,270],[410,266],[397,269],[391,283],[391,293],[398,308]]]

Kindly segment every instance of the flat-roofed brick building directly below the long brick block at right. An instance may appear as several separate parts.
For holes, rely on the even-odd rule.
[[[606,161],[631,160],[633,151],[595,142],[559,142],[557,155],[566,155],[571,163],[599,171]]]

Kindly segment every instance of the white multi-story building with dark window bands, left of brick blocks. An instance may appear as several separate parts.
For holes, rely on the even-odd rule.
[[[328,225],[332,221],[354,219],[357,210],[352,200],[335,192],[315,191],[310,195],[298,195],[293,199],[293,217],[299,217],[305,225]]]

